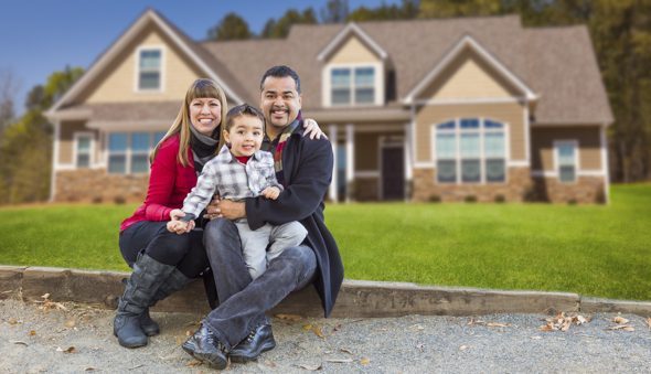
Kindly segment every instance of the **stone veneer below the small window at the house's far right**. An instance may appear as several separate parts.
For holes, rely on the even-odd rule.
[[[606,186],[602,177],[578,177],[575,183],[561,183],[556,178],[533,179],[537,200],[553,203],[602,204]]]

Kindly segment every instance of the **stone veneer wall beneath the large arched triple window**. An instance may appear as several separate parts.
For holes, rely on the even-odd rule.
[[[506,183],[438,184],[435,169],[414,169],[414,201],[524,201],[532,189],[529,168],[510,168]]]

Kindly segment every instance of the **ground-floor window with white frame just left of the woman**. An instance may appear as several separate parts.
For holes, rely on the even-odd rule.
[[[142,174],[149,172],[149,152],[164,132],[111,132],[108,135],[108,172]]]

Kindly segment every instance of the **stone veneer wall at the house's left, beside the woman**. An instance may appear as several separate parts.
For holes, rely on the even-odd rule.
[[[149,174],[108,174],[102,169],[56,172],[54,201],[57,202],[142,202]]]

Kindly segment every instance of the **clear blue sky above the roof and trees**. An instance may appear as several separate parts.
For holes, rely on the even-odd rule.
[[[26,93],[47,76],[70,66],[90,64],[147,9],[153,8],[193,40],[226,13],[236,12],[259,33],[269,18],[286,10],[314,9],[327,0],[8,0],[0,2],[0,77],[10,74],[18,85],[17,111],[23,111]],[[352,11],[399,0],[349,0]]]

